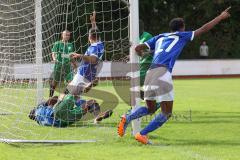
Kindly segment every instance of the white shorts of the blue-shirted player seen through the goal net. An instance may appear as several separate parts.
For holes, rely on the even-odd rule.
[[[90,84],[91,82],[77,73],[74,75],[73,80],[68,84],[67,89],[73,95],[80,95]]]

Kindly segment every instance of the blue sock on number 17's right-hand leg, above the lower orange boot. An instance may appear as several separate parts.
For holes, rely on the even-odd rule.
[[[141,132],[141,135],[147,135],[159,127],[161,127],[167,121],[167,116],[160,113],[158,114]]]

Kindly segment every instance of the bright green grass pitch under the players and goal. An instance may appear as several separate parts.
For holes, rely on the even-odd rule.
[[[98,90],[115,94],[111,83]],[[96,139],[97,143],[43,145],[0,143],[1,160],[238,160],[240,157],[240,79],[174,80],[174,117],[149,134],[153,145],[139,144],[131,127],[117,136],[119,115],[129,106],[121,99],[110,119],[98,126],[79,122],[68,128],[41,127],[27,118],[35,90],[0,88],[0,137],[17,139]],[[45,96],[48,89],[45,89]],[[149,120],[143,119],[143,125]]]

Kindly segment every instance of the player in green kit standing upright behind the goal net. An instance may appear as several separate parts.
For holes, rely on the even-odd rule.
[[[52,59],[54,62],[53,80],[50,83],[49,97],[52,97],[58,83],[69,83],[73,79],[70,55],[74,52],[73,44],[69,42],[71,33],[68,30],[62,32],[60,41],[54,43]]]

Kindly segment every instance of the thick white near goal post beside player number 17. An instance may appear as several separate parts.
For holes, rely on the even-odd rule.
[[[140,72],[138,69],[138,56],[135,47],[139,43],[139,1],[129,0],[129,25],[130,25],[130,63],[131,63],[131,102],[132,111],[140,105]],[[141,119],[132,122],[132,134],[135,135],[141,129]]]

